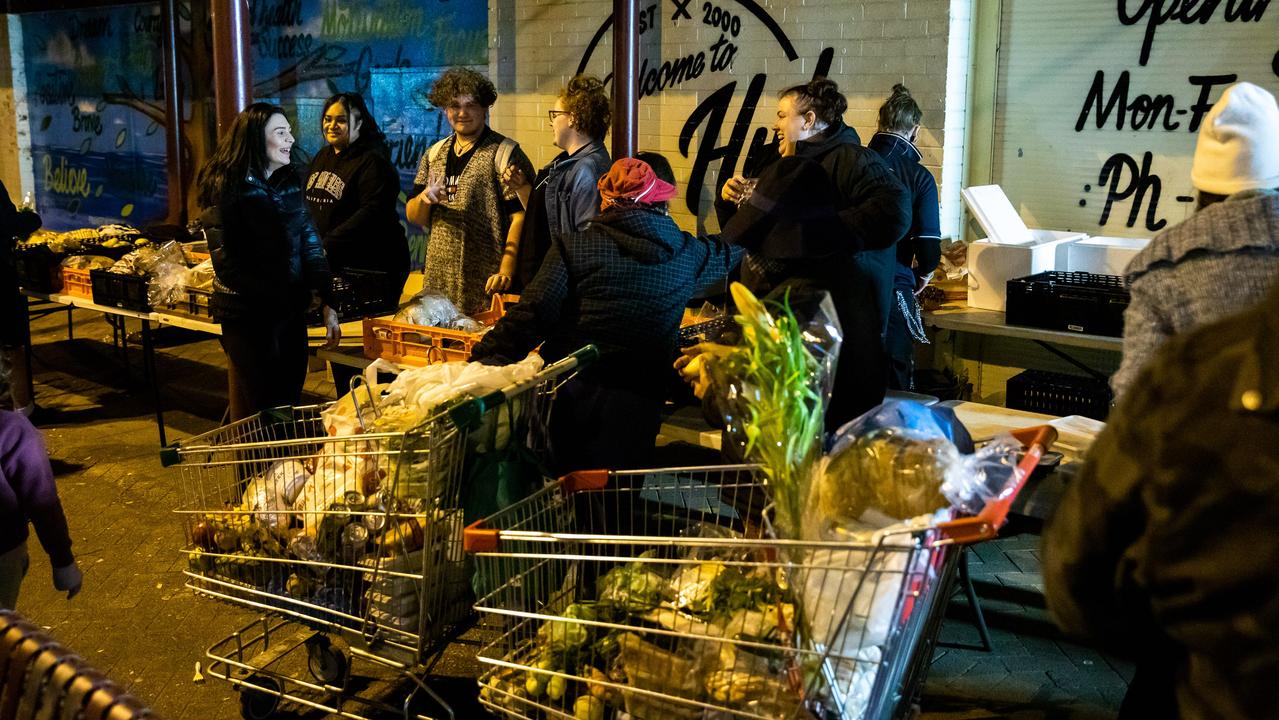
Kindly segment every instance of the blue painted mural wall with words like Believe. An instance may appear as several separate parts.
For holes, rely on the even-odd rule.
[[[448,128],[426,102],[439,69],[489,63],[478,0],[251,0],[249,18],[255,96],[285,106],[299,146],[320,148],[324,98],[362,92],[405,187]],[[159,24],[155,4],[22,17],[35,197],[47,226],[164,219]]]

